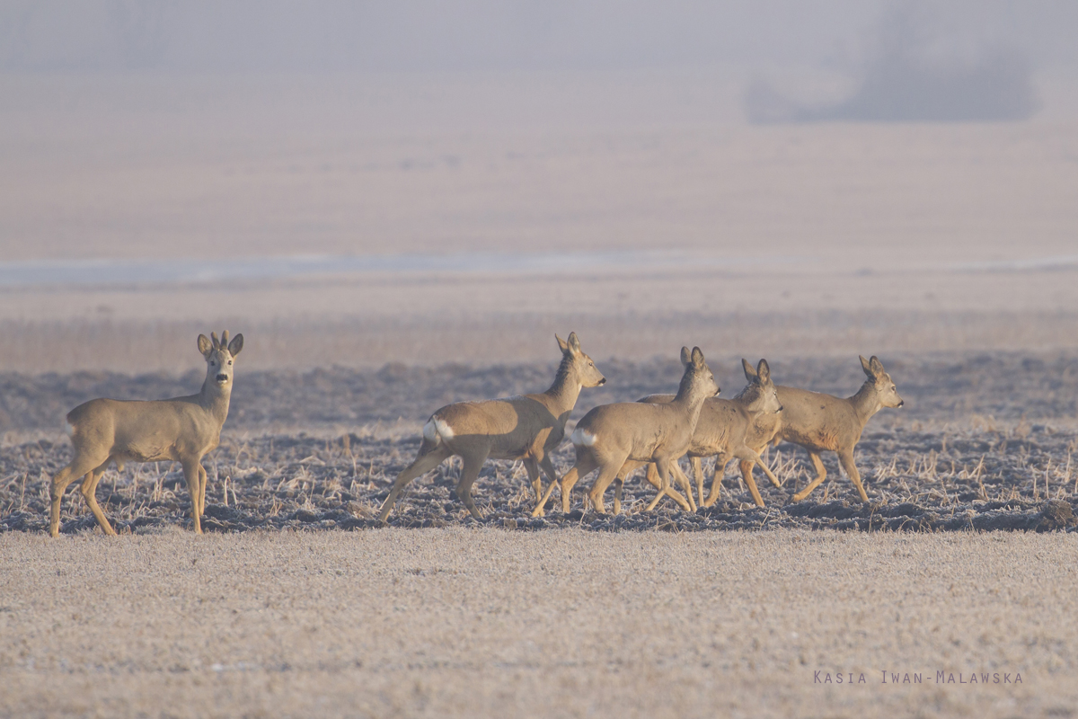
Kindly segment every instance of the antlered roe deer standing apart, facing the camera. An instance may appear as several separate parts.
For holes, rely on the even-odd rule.
[[[229,342],[229,332],[198,335],[198,351],[206,358],[202,391],[170,400],[129,401],[97,399],[80,404],[67,415],[74,459],[53,478],[50,531],[60,530],[60,499],[69,484],[82,478],[82,496],[107,535],[115,535],[97,504],[94,490],[110,461],[121,470],[125,461],[171,459],[183,467],[191,494],[191,518],[202,534],[206,503],[206,470],[202,458],[221,440],[232,395],[232,360],[244,348],[244,335]]]

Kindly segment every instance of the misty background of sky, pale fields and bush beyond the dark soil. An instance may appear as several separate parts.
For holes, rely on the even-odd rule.
[[[138,369],[141,328],[182,368],[225,320],[267,367],[533,361],[567,327],[1054,346],[1075,30],[1050,0],[0,0],[0,363]]]

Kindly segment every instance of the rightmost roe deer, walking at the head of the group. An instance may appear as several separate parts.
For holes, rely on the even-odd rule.
[[[869,497],[861,485],[861,475],[854,464],[854,447],[861,439],[865,425],[883,407],[900,407],[906,402],[898,396],[890,375],[883,369],[883,363],[873,356],[872,359],[860,358],[861,369],[868,376],[857,393],[849,398],[832,397],[806,389],[778,386],[778,399],[783,403],[782,418],[774,427],[774,444],[780,441],[800,444],[808,452],[816,479],[801,492],[793,495],[793,501],[801,501],[827,478],[827,470],[819,458],[820,452],[834,452],[846,475],[849,476],[861,501]],[[766,440],[764,440],[766,444]],[[741,465],[742,474],[751,476],[751,465]],[[747,472],[746,472],[747,470]]]

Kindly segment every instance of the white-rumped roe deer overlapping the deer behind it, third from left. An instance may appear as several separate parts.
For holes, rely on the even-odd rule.
[[[577,461],[562,478],[562,511],[569,511],[572,485],[592,470],[599,474],[592,485],[589,498],[597,512],[606,512],[603,493],[618,475],[626,460],[654,462],[659,470],[660,488],[648,510],[654,508],[663,495],[669,495],[686,511],[689,502],[669,486],[671,465],[686,453],[700,417],[704,400],[719,393],[715,375],[704,361],[700,347],[681,348],[685,374],[677,396],[662,404],[618,402],[602,404],[585,414],[572,432]],[[551,485],[533,512],[538,515],[554,487]]]

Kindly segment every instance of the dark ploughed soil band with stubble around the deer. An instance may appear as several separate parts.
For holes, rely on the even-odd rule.
[[[534,499],[523,468],[489,461],[473,490],[484,512],[482,523],[515,529],[571,524],[596,530],[673,531],[1075,529],[1078,472],[1070,459],[1078,447],[1073,420],[1078,414],[1078,358],[994,354],[884,359],[907,407],[874,417],[858,445],[856,458],[869,503],[857,500],[833,455],[825,456],[828,481],[804,501],[791,503],[790,496],[808,481],[810,467],[803,450],[783,444],[771,451],[770,458],[784,486],[774,488],[758,478],[766,507],[750,503],[731,465],[721,500],[694,514],[678,511],[668,499],[654,512],[641,512],[653,489],[637,475],[625,485],[627,511],[621,515],[581,511],[583,488],[592,479],[588,478],[577,485],[573,511],[563,514],[555,493],[547,516],[531,518]],[[597,403],[669,391],[680,373],[676,362],[667,361],[607,362],[602,369],[610,382],[584,390],[573,418]],[[776,361],[772,372],[780,384],[843,396],[853,393],[863,378],[856,358]],[[419,439],[411,431],[372,430],[372,425],[397,419],[421,423],[451,401],[543,389],[552,373],[552,367],[542,365],[240,372],[221,446],[204,461],[210,478],[205,526],[219,531],[376,526],[374,515],[389,483],[413,459]],[[733,372],[717,374],[723,396],[736,393],[744,384]],[[0,375],[0,427],[58,428],[58,417],[93,397],[167,397],[191,393],[199,384],[201,376],[194,374],[179,378]],[[288,433],[275,433],[275,427],[288,428]],[[334,429],[341,427],[353,429]],[[309,433],[296,428],[309,428]],[[0,531],[47,529],[49,478],[70,454],[66,438],[0,450]],[[566,442],[555,466],[564,472],[571,462],[571,445]],[[390,524],[474,523],[453,495],[458,472],[459,461],[447,461],[415,480]],[[709,471],[707,476],[709,484]],[[119,531],[191,525],[186,484],[178,465],[110,470],[97,498]],[[64,509],[65,533],[94,528],[78,492],[68,490]]]

